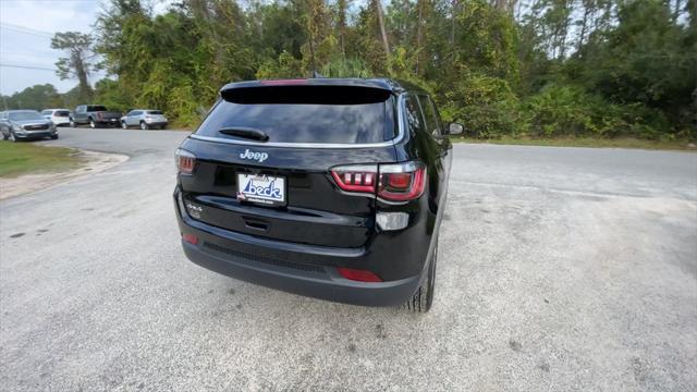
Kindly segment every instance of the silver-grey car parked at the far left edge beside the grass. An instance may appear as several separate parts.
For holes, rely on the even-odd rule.
[[[8,110],[0,112],[0,133],[3,140],[58,138],[56,125],[36,110]]]

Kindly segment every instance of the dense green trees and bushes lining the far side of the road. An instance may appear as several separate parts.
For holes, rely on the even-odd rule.
[[[57,34],[53,48],[81,53],[57,63],[75,89],[19,95],[53,100],[37,109],[156,108],[191,127],[223,84],[315,64],[421,85],[469,138],[697,139],[695,0],[181,0],[157,15],[146,3],[107,1],[93,35]],[[93,89],[96,68],[110,77]]]

